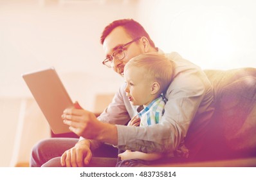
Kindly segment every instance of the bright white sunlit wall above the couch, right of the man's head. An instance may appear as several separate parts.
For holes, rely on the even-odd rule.
[[[204,69],[256,67],[253,0],[142,0],[139,21],[163,51]]]

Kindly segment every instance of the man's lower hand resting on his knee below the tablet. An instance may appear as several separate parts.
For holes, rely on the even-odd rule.
[[[82,140],[78,141],[75,147],[66,150],[60,158],[62,167],[83,167],[88,165],[92,157],[90,145],[89,140]]]

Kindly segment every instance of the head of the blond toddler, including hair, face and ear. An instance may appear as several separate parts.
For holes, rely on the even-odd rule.
[[[145,53],[131,58],[124,68],[126,93],[133,105],[147,105],[166,91],[174,63],[165,55]]]

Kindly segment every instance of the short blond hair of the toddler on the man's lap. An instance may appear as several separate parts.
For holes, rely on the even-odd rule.
[[[144,53],[131,58],[124,68],[126,70],[131,66],[143,68],[144,79],[158,82],[160,93],[164,93],[172,82],[174,62],[160,53]]]

